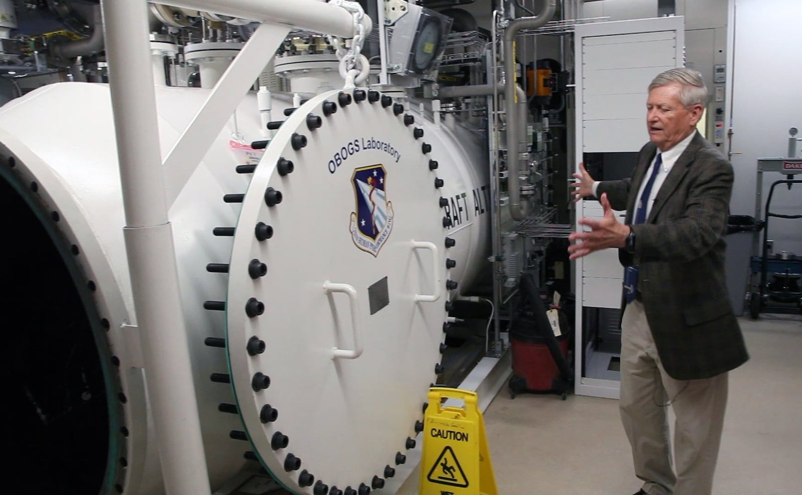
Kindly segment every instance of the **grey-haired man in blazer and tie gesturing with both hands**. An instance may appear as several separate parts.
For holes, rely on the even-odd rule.
[[[658,74],[632,177],[596,182],[581,163],[573,175],[577,201],[600,197],[604,217],[579,221],[590,230],[570,236],[571,259],[618,247],[626,267],[619,406],[644,481],[635,495],[710,495],[727,372],[748,359],[724,277],[732,167],[696,132],[706,99],[695,70]],[[626,209],[625,223],[613,209]]]

